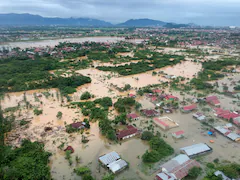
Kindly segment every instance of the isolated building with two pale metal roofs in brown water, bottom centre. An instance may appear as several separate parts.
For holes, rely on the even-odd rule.
[[[104,167],[107,167],[114,174],[128,167],[127,162],[121,159],[115,151],[100,156],[98,160]]]

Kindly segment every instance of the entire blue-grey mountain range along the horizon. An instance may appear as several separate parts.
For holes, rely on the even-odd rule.
[[[111,24],[106,21],[91,18],[58,18],[42,17],[32,14],[0,14],[0,25],[37,26],[65,25],[84,27],[187,27],[187,24],[175,24],[152,19],[130,19],[124,23]]]

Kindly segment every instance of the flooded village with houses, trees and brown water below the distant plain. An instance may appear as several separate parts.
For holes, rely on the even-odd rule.
[[[239,178],[239,47],[220,30],[208,35],[225,47],[136,32],[131,41],[16,42],[2,51],[6,71],[29,76],[0,82],[3,115],[14,116],[5,144],[43,144],[52,179]],[[29,61],[18,64],[29,73],[11,58]]]

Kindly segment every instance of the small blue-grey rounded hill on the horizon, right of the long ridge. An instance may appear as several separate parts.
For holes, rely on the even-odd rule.
[[[117,24],[117,26],[127,27],[149,27],[149,26],[164,26],[166,23],[152,19],[130,19],[124,23]]]

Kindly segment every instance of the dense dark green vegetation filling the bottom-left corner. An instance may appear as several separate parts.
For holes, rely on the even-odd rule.
[[[44,145],[24,140],[20,148],[4,147],[1,151],[1,179],[51,179]]]

